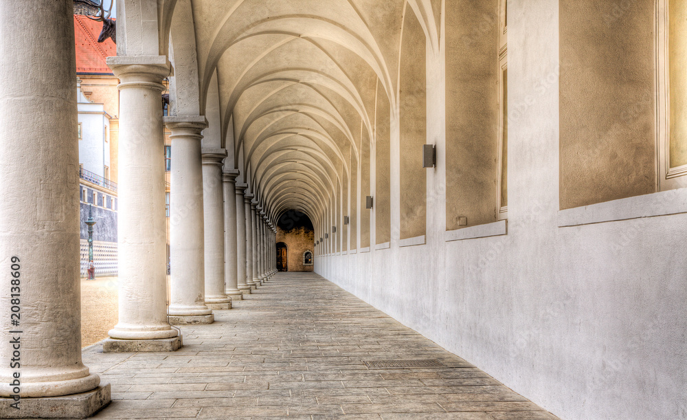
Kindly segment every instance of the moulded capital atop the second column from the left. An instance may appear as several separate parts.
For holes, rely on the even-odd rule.
[[[114,56],[106,63],[120,79],[120,90],[128,87],[148,87],[164,91],[162,79],[170,74],[170,62],[166,56]]]

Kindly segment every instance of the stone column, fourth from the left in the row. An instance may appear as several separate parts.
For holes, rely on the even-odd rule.
[[[224,188],[222,167],[227,151],[203,149],[203,217],[205,219],[205,305],[232,309],[224,272]]]

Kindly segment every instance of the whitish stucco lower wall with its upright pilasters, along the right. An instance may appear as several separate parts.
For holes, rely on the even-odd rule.
[[[687,214],[559,227],[558,4],[508,2],[508,233],[446,241],[438,82],[426,244],[399,247],[394,181],[390,248],[318,255],[315,271],[562,419],[684,419]]]

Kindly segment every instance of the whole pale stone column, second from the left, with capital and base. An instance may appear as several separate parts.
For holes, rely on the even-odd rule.
[[[173,351],[181,340],[167,320],[162,78],[165,56],[116,56],[107,64],[120,79],[119,323],[103,351]],[[116,341],[126,340],[126,341]],[[157,340],[155,342],[150,340]]]

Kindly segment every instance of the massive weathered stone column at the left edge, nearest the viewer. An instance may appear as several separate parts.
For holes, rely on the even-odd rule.
[[[0,6],[0,419],[55,406],[90,416],[110,401],[81,360],[72,10],[65,0]],[[12,397],[26,398],[20,410]],[[59,398],[51,409],[42,397]]]

